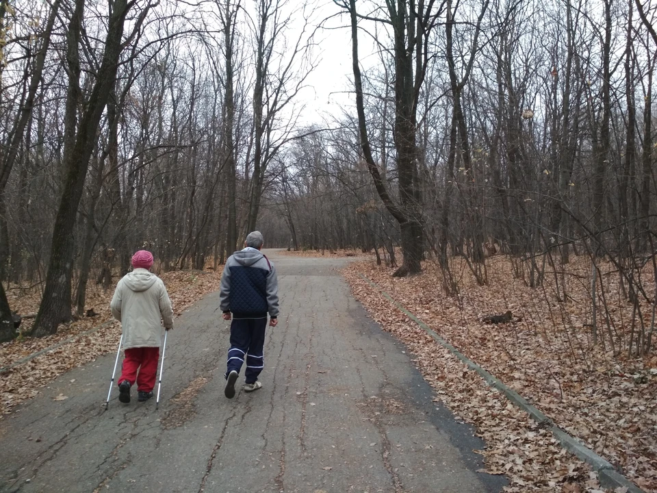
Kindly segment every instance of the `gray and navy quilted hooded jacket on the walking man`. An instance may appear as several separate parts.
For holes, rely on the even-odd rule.
[[[276,318],[279,281],[276,268],[259,250],[246,247],[226,261],[221,277],[220,308],[235,318]]]

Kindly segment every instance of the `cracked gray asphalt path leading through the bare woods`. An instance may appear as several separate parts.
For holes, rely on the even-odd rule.
[[[1,492],[499,492],[473,430],[433,402],[403,344],[368,318],[346,260],[277,255],[263,387],[223,394],[229,323],[211,293],[176,320],[162,397],[104,401],[114,357],[0,420]],[[117,343],[120,334],[117,333]],[[55,401],[63,394],[68,399]]]

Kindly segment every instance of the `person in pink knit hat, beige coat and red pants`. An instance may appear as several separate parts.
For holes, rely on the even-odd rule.
[[[135,383],[138,401],[153,396],[162,334],[173,328],[173,310],[164,282],[151,273],[153,255],[140,250],[131,263],[132,272],[118,281],[110,303],[112,315],[123,330],[125,359],[118,379],[118,400],[126,404]]]

